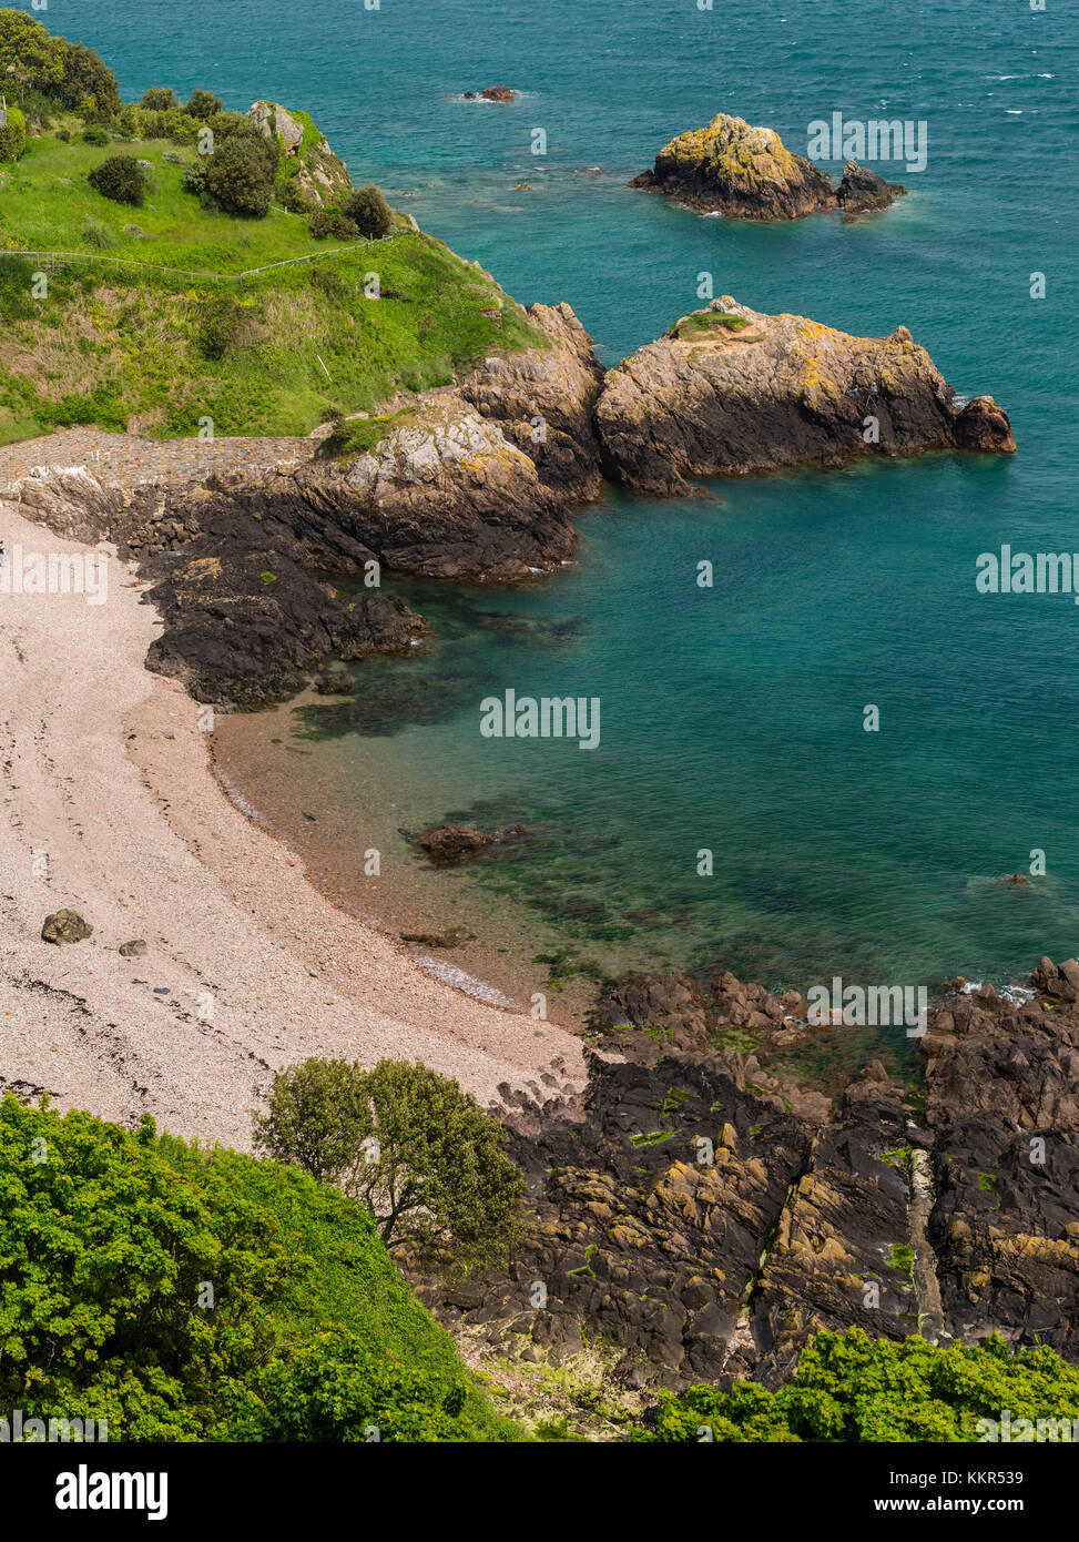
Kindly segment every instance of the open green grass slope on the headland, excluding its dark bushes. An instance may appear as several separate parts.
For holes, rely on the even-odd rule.
[[[154,163],[140,208],[86,182],[109,154]],[[242,270],[319,253],[294,268],[236,282],[113,264],[71,264],[31,298],[40,264],[0,258],[0,443],[57,424],[196,433],[308,433],[334,409],[368,412],[398,387],[449,384],[486,353],[543,345],[524,311],[479,268],[404,221],[388,241],[314,241],[307,219],[273,208],[262,221],[203,210],[183,191],[166,140],[92,146],[55,134],[0,170],[0,247],[97,253],[171,270]],[[193,151],[183,151],[193,159]],[[128,225],[145,234],[125,236]],[[381,299],[367,299],[378,273]],[[210,356],[208,310],[228,302],[234,336]],[[503,305],[503,327],[482,315]],[[319,364],[319,358],[322,364]]]

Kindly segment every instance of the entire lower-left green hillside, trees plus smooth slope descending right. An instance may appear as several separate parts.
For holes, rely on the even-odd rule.
[[[0,1104],[0,1409],[109,1439],[503,1440],[351,1200],[153,1121]]]

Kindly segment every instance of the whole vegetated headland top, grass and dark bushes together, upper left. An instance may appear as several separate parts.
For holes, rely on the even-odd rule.
[[[476,265],[350,190],[308,114],[285,154],[208,91],[125,105],[94,60],[0,11],[31,125],[0,163],[0,443],[69,424],[310,433],[544,344]],[[339,177],[330,207],[304,194],[304,157]]]

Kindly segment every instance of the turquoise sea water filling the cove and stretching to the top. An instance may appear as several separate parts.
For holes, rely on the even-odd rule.
[[[404,823],[523,819],[538,837],[479,882],[641,967],[1000,981],[1079,948],[1079,608],[974,591],[976,557],[1002,543],[1079,549],[1067,6],[80,0],[46,22],[103,52],[126,96],[307,106],[355,179],[521,301],[569,299],[607,362],[692,308],[708,271],[760,310],[906,324],[959,392],[1013,418],[1011,461],[723,483],[721,504],[610,493],[580,517],[575,566],[536,588],[410,586],[439,643],[308,714],[331,737],[294,757],[305,808],[316,765],[336,769],[319,796],[347,805],[350,757],[388,739]],[[499,82],[523,93],[512,106],[455,100]],[[928,167],[880,167],[914,196],[846,227],[700,219],[624,187],[717,111],[797,151],[834,111],[925,120]],[[479,700],[506,686],[598,695],[601,746],[482,740]],[[869,703],[880,732],[862,728]],[[1036,848],[1045,877],[1003,885]]]

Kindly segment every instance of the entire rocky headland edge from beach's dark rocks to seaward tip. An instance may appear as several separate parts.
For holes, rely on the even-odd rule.
[[[422,638],[422,617],[382,588],[393,574],[512,584],[558,567],[573,506],[604,476],[681,495],[695,476],[1016,447],[993,398],[959,409],[905,327],[854,338],[723,296],[604,373],[569,305],[527,319],[533,345],[311,438],[247,441],[242,464],[222,452],[173,472],[134,441],[122,473],[52,460],[0,498],[60,535],[114,541],[165,620],[151,668],[244,706],[293,694],[324,658]]]

